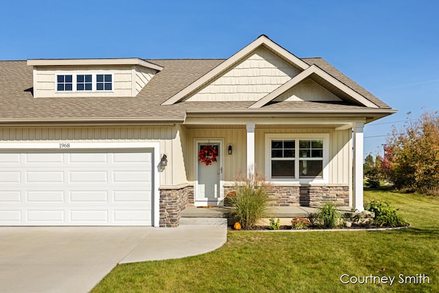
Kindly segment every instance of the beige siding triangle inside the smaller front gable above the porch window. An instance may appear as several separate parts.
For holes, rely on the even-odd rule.
[[[289,89],[279,97],[274,99],[275,102],[282,101],[336,101],[342,102],[342,99],[324,89],[323,86],[317,84],[313,80],[305,80],[304,82]]]

